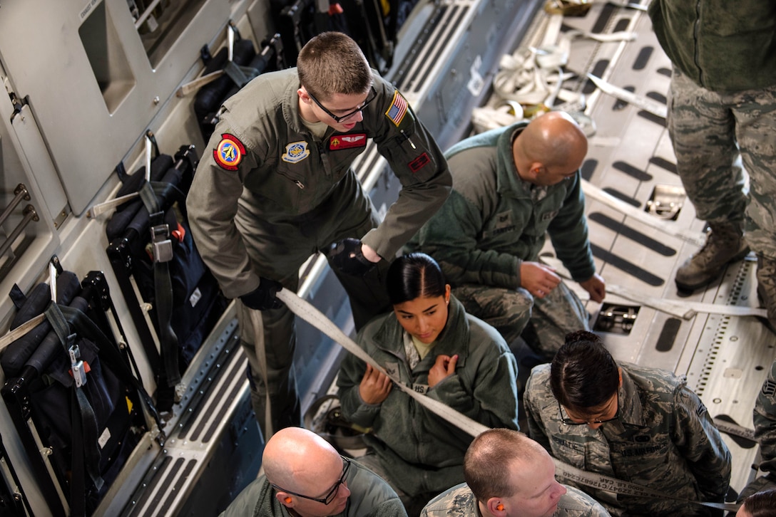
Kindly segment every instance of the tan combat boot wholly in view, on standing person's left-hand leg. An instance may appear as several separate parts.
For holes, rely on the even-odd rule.
[[[708,226],[706,243],[677,270],[675,281],[680,291],[695,291],[712,283],[727,264],[749,253],[743,222],[710,222]]]

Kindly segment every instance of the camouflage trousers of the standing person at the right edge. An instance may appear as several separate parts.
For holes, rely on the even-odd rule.
[[[698,219],[745,220],[750,248],[776,260],[776,84],[715,92],[674,67],[669,96],[668,131]],[[734,164],[739,152],[750,179],[748,200]]]

